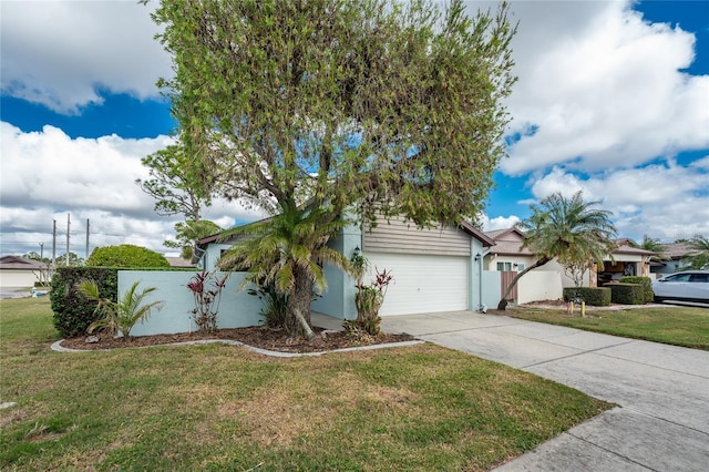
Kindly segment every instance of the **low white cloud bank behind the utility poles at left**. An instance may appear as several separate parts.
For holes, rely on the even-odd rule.
[[[3,254],[45,250],[52,244],[52,220],[58,220],[59,250],[65,250],[66,214],[71,215],[71,250],[83,256],[85,220],[91,247],[135,244],[164,252],[179,216],[160,217],[155,201],[135,185],[148,176],[141,158],[172,142],[168,136],[125,140],[116,135],[71,138],[61,130],[23,133],[1,122],[2,172],[0,226]],[[259,214],[237,202],[216,199],[205,218],[222,227],[254,220]]]

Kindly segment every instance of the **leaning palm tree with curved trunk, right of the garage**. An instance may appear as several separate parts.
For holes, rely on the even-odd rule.
[[[497,309],[504,310],[507,297],[517,280],[530,270],[556,258],[562,265],[586,264],[603,260],[616,248],[613,238],[616,228],[608,211],[594,209],[599,202],[585,203],[582,192],[572,198],[555,193],[532,205],[530,218],[517,224],[524,230],[522,247],[532,250],[537,260],[515,276],[505,290]]]

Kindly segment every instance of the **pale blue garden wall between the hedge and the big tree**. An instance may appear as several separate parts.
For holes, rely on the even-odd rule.
[[[163,301],[163,308],[153,310],[144,324],[132,329],[133,336],[196,331],[192,310],[195,308],[192,291],[187,288],[189,279],[196,273],[167,270],[120,270],[119,294],[124,294],[133,283],[140,280],[138,293],[147,287],[156,287],[145,302]],[[218,273],[217,276],[223,276]],[[219,328],[242,328],[258,325],[261,320],[259,311],[264,307],[261,300],[239,289],[245,273],[233,273],[222,290],[222,302],[217,316]],[[121,295],[119,295],[121,296]]]

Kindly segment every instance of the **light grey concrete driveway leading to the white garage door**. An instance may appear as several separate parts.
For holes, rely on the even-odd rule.
[[[709,352],[472,311],[386,317],[387,332],[619,404],[499,471],[709,471]]]

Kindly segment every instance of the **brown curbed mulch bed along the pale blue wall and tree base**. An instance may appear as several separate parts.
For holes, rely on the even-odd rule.
[[[135,336],[130,340],[113,338],[99,334],[99,342],[86,342],[86,337],[64,339],[63,348],[69,349],[119,349],[137,348],[146,346],[164,346],[175,342],[198,341],[207,339],[229,339],[245,345],[279,352],[322,352],[335,349],[381,345],[388,342],[410,341],[414,338],[410,335],[391,335],[381,332],[377,337],[356,339],[345,331],[325,331],[316,329],[316,338],[311,341],[299,338],[289,338],[282,329],[271,329],[264,326],[249,328],[217,329],[213,334],[179,332],[175,335]]]

